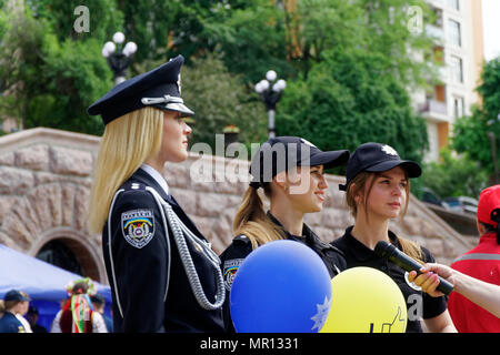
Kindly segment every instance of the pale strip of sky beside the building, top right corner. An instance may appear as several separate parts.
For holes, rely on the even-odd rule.
[[[500,0],[482,0],[482,21],[484,58],[489,61],[500,55]]]

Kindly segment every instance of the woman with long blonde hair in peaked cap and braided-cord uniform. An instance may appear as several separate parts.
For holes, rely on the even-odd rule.
[[[181,99],[181,55],[93,103],[106,124],[89,230],[102,232],[114,332],[222,332],[220,260],[170,194],[166,162],[188,158],[194,114]]]

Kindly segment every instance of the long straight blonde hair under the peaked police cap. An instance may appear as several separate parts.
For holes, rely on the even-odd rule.
[[[163,111],[149,106],[106,125],[90,191],[90,233],[102,232],[117,190],[149,156],[160,151],[162,130]]]

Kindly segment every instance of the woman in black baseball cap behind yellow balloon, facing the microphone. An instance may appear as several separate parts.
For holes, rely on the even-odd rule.
[[[389,230],[389,221],[403,217],[407,212],[409,179],[420,174],[418,163],[401,160],[388,144],[370,142],[358,146],[347,165],[347,183],[339,186],[346,191],[354,225],[348,227],[332,245],[343,252],[348,267],[374,267],[398,284],[407,302],[408,333],[422,332],[420,318],[430,332],[456,332],[444,296],[433,298],[423,293],[409,281],[408,272],[373,252],[379,241],[386,241],[422,264],[434,261],[427,248]]]

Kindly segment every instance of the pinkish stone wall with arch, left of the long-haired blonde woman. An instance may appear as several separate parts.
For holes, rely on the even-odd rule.
[[[100,237],[86,227],[99,138],[33,129],[0,138],[0,243],[29,255],[59,240],[106,280]]]

